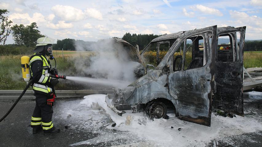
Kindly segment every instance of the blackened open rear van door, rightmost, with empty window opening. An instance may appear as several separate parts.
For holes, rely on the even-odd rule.
[[[243,58],[244,58],[244,38],[246,27],[239,28],[218,28],[217,30],[217,42],[218,37],[221,34],[229,34],[237,37],[236,32],[240,33],[239,46],[235,37],[232,37],[232,47],[237,47],[236,51],[233,51],[233,57],[235,54],[237,61],[233,62],[218,62],[217,61],[217,47],[216,47],[216,61],[215,61],[215,81],[216,90],[213,96],[213,106],[215,108],[224,110],[229,113],[244,116],[243,109]],[[212,37],[213,38],[213,37]],[[218,44],[218,43],[216,43]],[[222,68],[226,67],[226,68]],[[222,68],[222,69],[221,69]]]

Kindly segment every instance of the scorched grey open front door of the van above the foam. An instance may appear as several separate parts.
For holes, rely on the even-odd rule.
[[[173,69],[173,55],[178,50],[180,44],[185,41],[186,38],[190,36],[194,36],[194,34],[201,34],[203,33],[205,38],[205,44],[209,48],[209,56],[208,62],[205,66],[188,69],[188,70],[180,70],[180,71],[173,71],[170,70],[168,74],[168,83],[169,83],[169,93],[173,96],[174,101],[176,103],[176,110],[179,114],[181,120],[210,126],[211,124],[211,104],[212,104],[212,93],[214,89],[214,61],[215,61],[215,52],[212,51],[212,48],[216,47],[216,38],[212,38],[212,44],[209,44],[209,36],[206,32],[212,32],[213,36],[217,35],[217,26],[212,26],[208,28],[198,29],[195,32],[188,32],[184,33],[178,38],[181,40],[178,44],[175,45],[176,48],[167,58],[167,66]],[[186,45],[184,45],[185,51]],[[184,53],[183,53],[184,54]],[[199,70],[199,71],[198,71]],[[198,76],[197,76],[198,75]],[[190,81],[192,80],[192,81]],[[195,93],[198,94],[198,97],[194,95],[194,92],[188,94],[190,92],[190,86],[185,86],[197,83],[197,86],[201,86],[203,89],[192,89],[195,90]],[[184,82],[184,85],[183,83]],[[207,87],[206,87],[207,86]],[[205,88],[204,88],[205,87]],[[188,89],[189,88],[189,89]],[[184,90],[183,90],[184,89]],[[204,90],[205,92],[202,92]],[[183,92],[184,91],[184,92]],[[186,92],[187,91],[187,92]],[[188,100],[190,100],[190,102]],[[199,106],[198,104],[204,104],[205,107]]]

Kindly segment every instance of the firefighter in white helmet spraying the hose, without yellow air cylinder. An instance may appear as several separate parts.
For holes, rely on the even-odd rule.
[[[60,129],[55,128],[52,122],[53,100],[55,98],[54,86],[59,82],[46,75],[58,74],[52,69],[49,59],[53,59],[52,44],[54,40],[47,36],[37,39],[34,55],[30,57],[29,67],[33,77],[33,91],[36,97],[36,106],[31,118],[33,134],[44,130],[45,134],[59,133]],[[49,57],[49,59],[47,58]]]

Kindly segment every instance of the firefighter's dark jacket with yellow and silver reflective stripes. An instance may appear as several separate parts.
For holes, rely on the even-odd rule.
[[[29,66],[33,77],[33,90],[37,93],[48,94],[53,89],[49,85],[51,77],[45,76],[50,72],[50,62],[48,58],[40,54],[30,57]]]

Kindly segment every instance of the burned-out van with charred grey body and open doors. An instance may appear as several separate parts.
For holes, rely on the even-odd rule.
[[[153,119],[171,108],[179,119],[205,126],[212,107],[244,116],[245,28],[211,26],[155,38],[137,56],[139,78],[108,94],[108,107],[119,115],[143,110]]]

